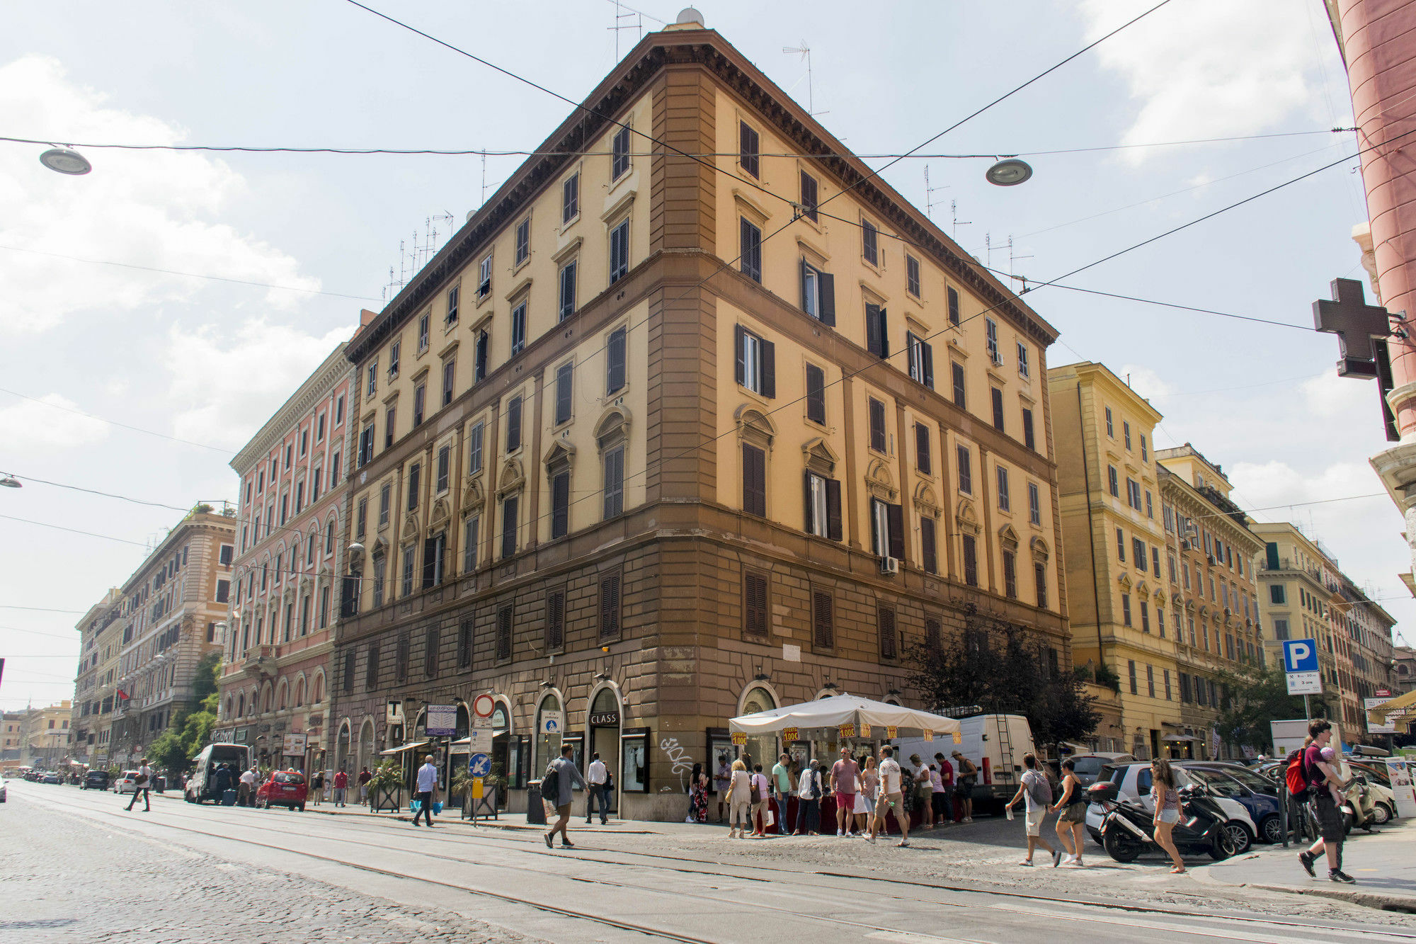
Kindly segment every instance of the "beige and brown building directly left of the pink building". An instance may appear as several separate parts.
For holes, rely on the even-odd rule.
[[[198,505],[123,583],[118,699],[109,761],[130,764],[183,712],[198,707],[197,662],[221,649],[231,601],[235,515]]]

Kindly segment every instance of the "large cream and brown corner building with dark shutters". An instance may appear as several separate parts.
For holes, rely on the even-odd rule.
[[[338,765],[487,692],[513,804],[568,743],[683,816],[971,614],[1069,668],[1046,322],[701,23],[537,152],[348,347]]]

